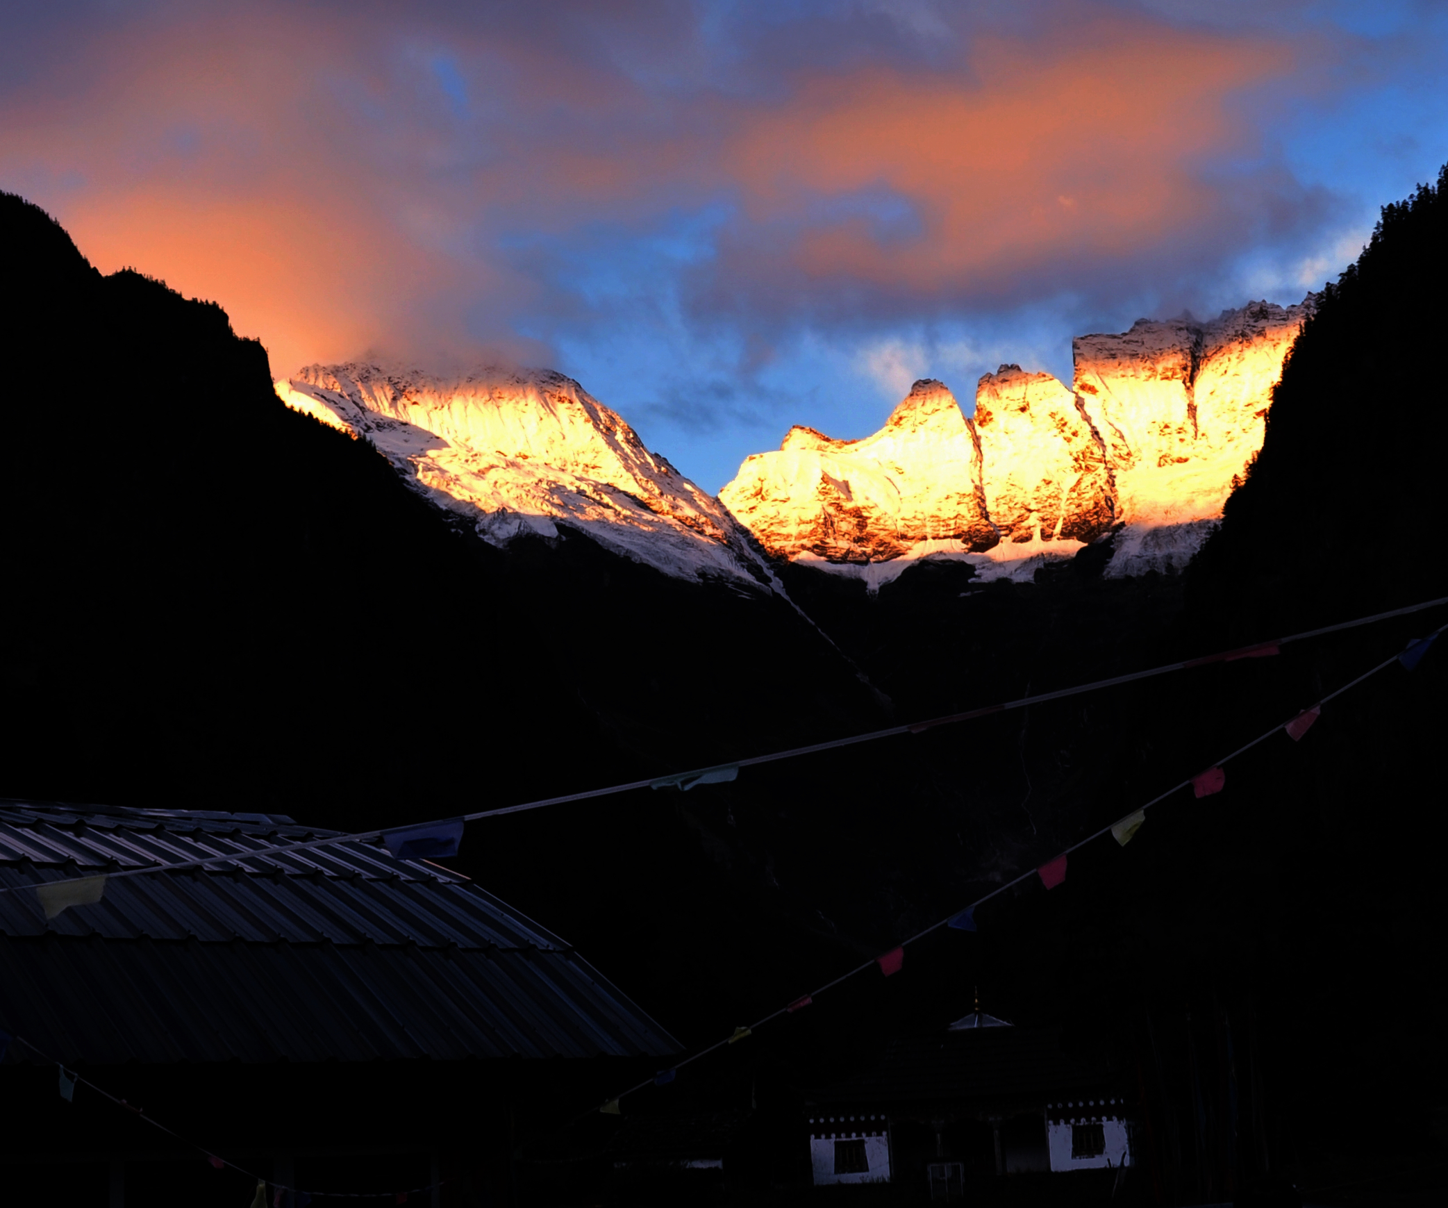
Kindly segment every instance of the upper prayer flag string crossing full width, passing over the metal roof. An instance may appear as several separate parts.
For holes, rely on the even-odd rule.
[[[650,779],[646,781],[628,781],[627,784],[610,785],[608,788],[594,788],[594,789],[586,789],[584,792],[569,792],[563,794],[562,797],[544,797],[539,801],[526,801],[521,805],[504,805],[498,810],[479,810],[472,814],[460,814],[453,818],[443,818],[432,823],[416,823],[411,826],[385,827],[379,830],[359,830],[359,831],[352,831],[349,834],[329,834],[323,839],[307,839],[300,843],[277,843],[269,847],[255,847],[251,850],[217,853],[214,856],[206,856],[203,859],[195,859],[195,860],[177,860],[172,863],[153,863],[153,865],[146,865],[145,868],[122,869],[119,872],[107,873],[107,878],[110,881],[114,881],[122,876],[146,876],[155,872],[182,871],[188,868],[207,868],[211,865],[226,865],[226,863],[240,865],[245,860],[262,859],[266,856],[282,856],[294,852],[308,852],[316,847],[334,847],[343,843],[372,843],[375,840],[381,840],[382,844],[387,846],[388,850],[391,850],[392,843],[398,842],[398,837],[403,837],[401,843],[398,843],[400,847],[405,846],[410,842],[407,839],[408,836],[416,836],[418,840],[426,843],[430,842],[430,839],[443,829],[449,829],[447,833],[450,834],[452,833],[450,829],[455,826],[459,827],[458,837],[460,842],[462,837],[460,826],[463,823],[475,823],[481,821],[482,818],[498,818],[505,814],[521,814],[529,810],[542,810],[549,805],[566,805],[573,801],[588,801],[595,797],[611,797],[618,792],[630,792],[639,788],[657,789],[657,788],[676,787],[686,792],[695,785],[724,784],[727,781],[733,781],[738,776],[740,768],[754,768],[759,766],[760,763],[773,763],[779,759],[796,759],[804,755],[815,755],[824,750],[835,750],[843,746],[854,746],[856,743],[869,743],[875,742],[876,739],[889,739],[895,737],[896,734],[921,734],[925,730],[934,729],[935,726],[953,726],[960,721],[972,721],[977,717],[986,717],[993,713],[1005,713],[1012,708],[1025,708],[1027,705],[1044,704],[1045,701],[1058,701],[1063,700],[1064,697],[1077,697],[1082,695],[1083,692],[1100,691],[1102,688],[1115,688],[1116,685],[1121,684],[1132,684],[1138,679],[1150,679],[1153,676],[1167,675],[1169,672],[1174,671],[1186,671],[1190,668],[1206,666],[1209,663],[1218,663],[1218,662],[1235,662],[1238,659],[1276,655],[1279,653],[1280,647],[1286,646],[1290,642],[1303,642],[1309,637],[1322,637],[1323,634],[1328,633],[1341,633],[1342,630],[1347,629],[1357,629],[1365,624],[1376,624],[1377,621],[1392,620],[1393,617],[1405,617],[1410,613],[1420,613],[1425,608],[1436,608],[1442,604],[1448,604],[1448,595],[1439,597],[1438,600],[1426,600],[1422,604],[1409,604],[1405,608],[1393,608],[1387,613],[1374,613],[1373,616],[1368,617],[1357,617],[1355,620],[1351,621],[1339,621],[1338,624],[1323,626],[1322,629],[1313,629],[1305,633],[1293,633],[1287,637],[1277,637],[1270,642],[1258,642],[1254,646],[1242,646],[1237,650],[1222,650],[1216,655],[1205,655],[1203,658],[1187,659],[1184,662],[1163,663],[1161,666],[1150,668],[1148,671],[1134,671],[1127,675],[1112,676],[1111,679],[1093,679],[1089,684],[1077,684],[1073,688],[1058,688],[1054,692],[1038,692],[1034,697],[1021,697],[1019,700],[1005,701],[1002,704],[985,705],[982,708],[973,708],[966,713],[951,713],[944,717],[933,717],[927,721],[915,721],[906,726],[891,726],[885,730],[870,730],[869,733],[864,734],[851,734],[844,739],[831,739],[830,742],[812,743],[811,746],[798,746],[798,747],[791,747],[788,750],[776,750],[772,755],[754,755],[749,759],[738,759],[734,763],[721,763],[712,768],[696,768],[689,772],[675,772],[668,776],[652,776]],[[1428,647],[1432,645],[1434,639],[1441,632],[1442,630],[1435,630],[1428,637],[1409,643],[1407,649],[1403,650],[1402,655],[1396,656],[1396,660],[1402,662],[1405,668],[1412,671],[1413,668],[1418,666],[1419,660],[1423,658],[1423,655],[1428,652]],[[1390,659],[1389,662],[1393,660],[1394,659]],[[458,850],[456,847],[452,847],[449,852],[446,852],[446,855],[456,855],[456,850]],[[421,859],[426,857],[427,855],[420,847],[411,847],[410,852],[417,852],[418,855],[404,855],[401,856],[401,859]],[[443,853],[439,852],[439,855]],[[61,885],[74,885],[77,882],[91,881],[91,879],[94,878],[91,876],[68,878],[65,881],[51,881],[46,882],[46,885],[49,892],[55,892]],[[0,885],[0,894],[10,894],[14,892],[16,889],[23,889],[23,888],[36,888],[36,891],[39,892],[39,888],[33,885],[32,886]],[[61,907],[61,910],[65,908],[68,907]],[[49,914],[46,915],[46,918],[52,917],[54,915]]]

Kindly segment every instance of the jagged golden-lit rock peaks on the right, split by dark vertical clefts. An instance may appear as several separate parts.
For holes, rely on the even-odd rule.
[[[720,498],[770,553],[872,588],[919,558],[1025,579],[1112,530],[1109,575],[1180,569],[1261,448],[1310,307],[1082,336],[1074,390],[1002,365],[980,378],[969,420],[941,382],[921,381],[863,440],[792,429]]]

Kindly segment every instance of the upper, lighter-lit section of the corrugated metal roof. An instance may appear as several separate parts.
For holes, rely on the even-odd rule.
[[[339,843],[308,852],[248,856],[287,839],[340,833],[217,813],[129,810],[81,815],[70,807],[4,802],[0,804],[0,884],[6,886],[174,860],[214,859],[214,863],[117,878],[106,885],[101,901],[71,907],[52,920],[45,918],[32,894],[0,894],[0,934],[571,947],[460,873],[398,859],[384,847]]]

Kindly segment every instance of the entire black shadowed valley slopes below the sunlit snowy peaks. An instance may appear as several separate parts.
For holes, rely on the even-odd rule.
[[[1432,534],[1448,416],[1399,382],[1434,364],[1445,249],[1442,180],[1384,211],[1303,332],[1251,477],[1187,575],[1108,581],[1093,546],[1035,584],[977,590],[921,565],[866,597],[788,568],[851,663],[779,600],[669,579],[576,536],[482,545],[369,446],[282,407],[264,349],[219,307],[101,277],[45,214],[0,196],[0,794],[420,820],[1448,595]],[[471,827],[458,866],[707,1043],[1444,621],[747,769],[686,797],[515,815]],[[1389,668],[1300,743],[1276,734],[1234,760],[1219,795],[1180,792],[1128,847],[1072,855],[1064,885],[1002,895],[979,933],[938,931],[898,976],[857,979],[691,1068],[676,1102],[795,1120],[804,1088],[888,1036],[941,1027],[979,986],[985,1010],[1060,1024],[1129,1070],[1163,1202],[1225,1199],[1283,1169],[1326,1186],[1428,1160],[1448,1076],[1445,684],[1444,649]]]

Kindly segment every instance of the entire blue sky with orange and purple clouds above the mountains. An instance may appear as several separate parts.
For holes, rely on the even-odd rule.
[[[1448,161],[1410,0],[0,0],[0,188],[313,362],[549,366],[710,491],[1281,304]]]

